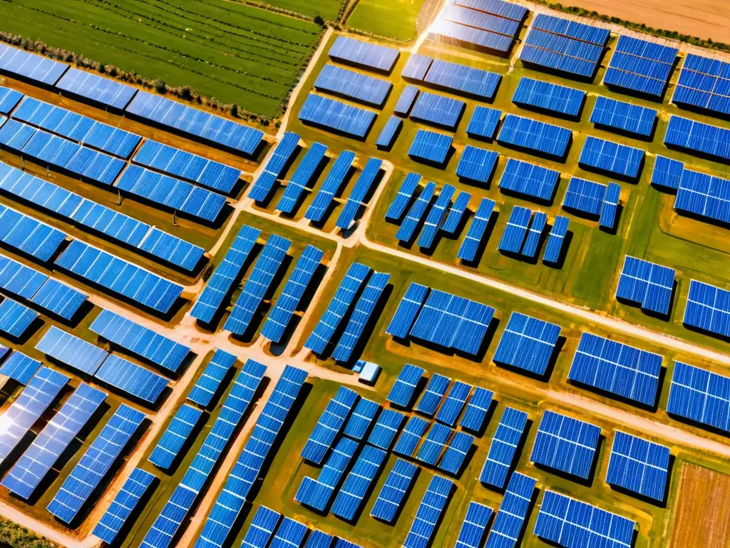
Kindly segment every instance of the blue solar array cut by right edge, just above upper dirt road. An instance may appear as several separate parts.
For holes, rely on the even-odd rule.
[[[730,337],[730,291],[692,280],[683,323],[687,327]]]

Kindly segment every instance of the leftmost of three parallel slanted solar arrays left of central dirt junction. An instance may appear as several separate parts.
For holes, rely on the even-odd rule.
[[[231,287],[241,275],[243,265],[248,259],[256,240],[261,235],[261,230],[243,225],[231,243],[231,247],[223,257],[213,275],[208,280],[203,292],[193,305],[190,315],[204,324],[210,323],[223,299],[231,292]]]

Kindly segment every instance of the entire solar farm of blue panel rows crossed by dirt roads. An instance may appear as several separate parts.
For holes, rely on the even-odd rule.
[[[265,131],[0,45],[0,515],[120,548],[730,538],[730,58],[432,8],[407,44],[324,34]]]

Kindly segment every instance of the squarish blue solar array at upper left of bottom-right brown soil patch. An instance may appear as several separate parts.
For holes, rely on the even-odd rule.
[[[616,430],[606,483],[664,501],[669,474],[669,447]]]

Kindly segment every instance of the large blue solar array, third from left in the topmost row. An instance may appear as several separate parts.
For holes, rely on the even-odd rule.
[[[672,73],[677,48],[622,34],[614,50],[604,83],[660,99]]]

